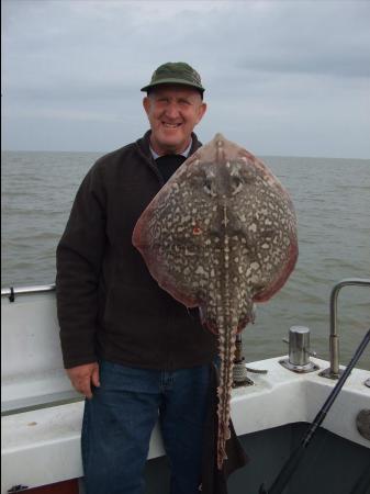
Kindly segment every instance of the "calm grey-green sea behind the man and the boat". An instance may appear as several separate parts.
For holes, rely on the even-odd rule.
[[[55,280],[55,248],[92,153],[2,153],[2,287]],[[257,307],[243,334],[247,361],[287,353],[292,325],[309,326],[328,358],[329,293],[343,278],[370,278],[370,160],[262,158],[290,191],[300,257],[285,287]],[[345,288],[338,311],[340,362],[370,327],[370,290]],[[370,348],[360,367],[370,369]]]

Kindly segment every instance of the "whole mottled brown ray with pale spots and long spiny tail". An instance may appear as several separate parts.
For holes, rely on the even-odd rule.
[[[226,458],[236,334],[254,302],[282,288],[298,258],[292,202],[250,153],[216,134],[184,161],[139,217],[133,244],[159,285],[199,306],[221,357],[217,467]]]

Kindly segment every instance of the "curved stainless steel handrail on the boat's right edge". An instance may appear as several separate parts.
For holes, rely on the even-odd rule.
[[[338,335],[338,295],[344,287],[370,287],[370,278],[345,278],[336,283],[330,293],[330,336],[329,353],[330,367],[325,369],[319,375],[328,379],[339,379],[341,370],[339,369],[339,335]]]

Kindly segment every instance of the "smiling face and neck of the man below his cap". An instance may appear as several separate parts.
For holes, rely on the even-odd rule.
[[[150,144],[158,155],[182,153],[206,109],[195,89],[175,85],[155,88],[143,104],[152,128]]]

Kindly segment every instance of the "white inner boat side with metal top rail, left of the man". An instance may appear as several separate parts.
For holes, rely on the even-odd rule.
[[[64,371],[54,294],[55,284],[1,289],[1,416],[83,400]],[[23,306],[34,295],[41,304]]]

